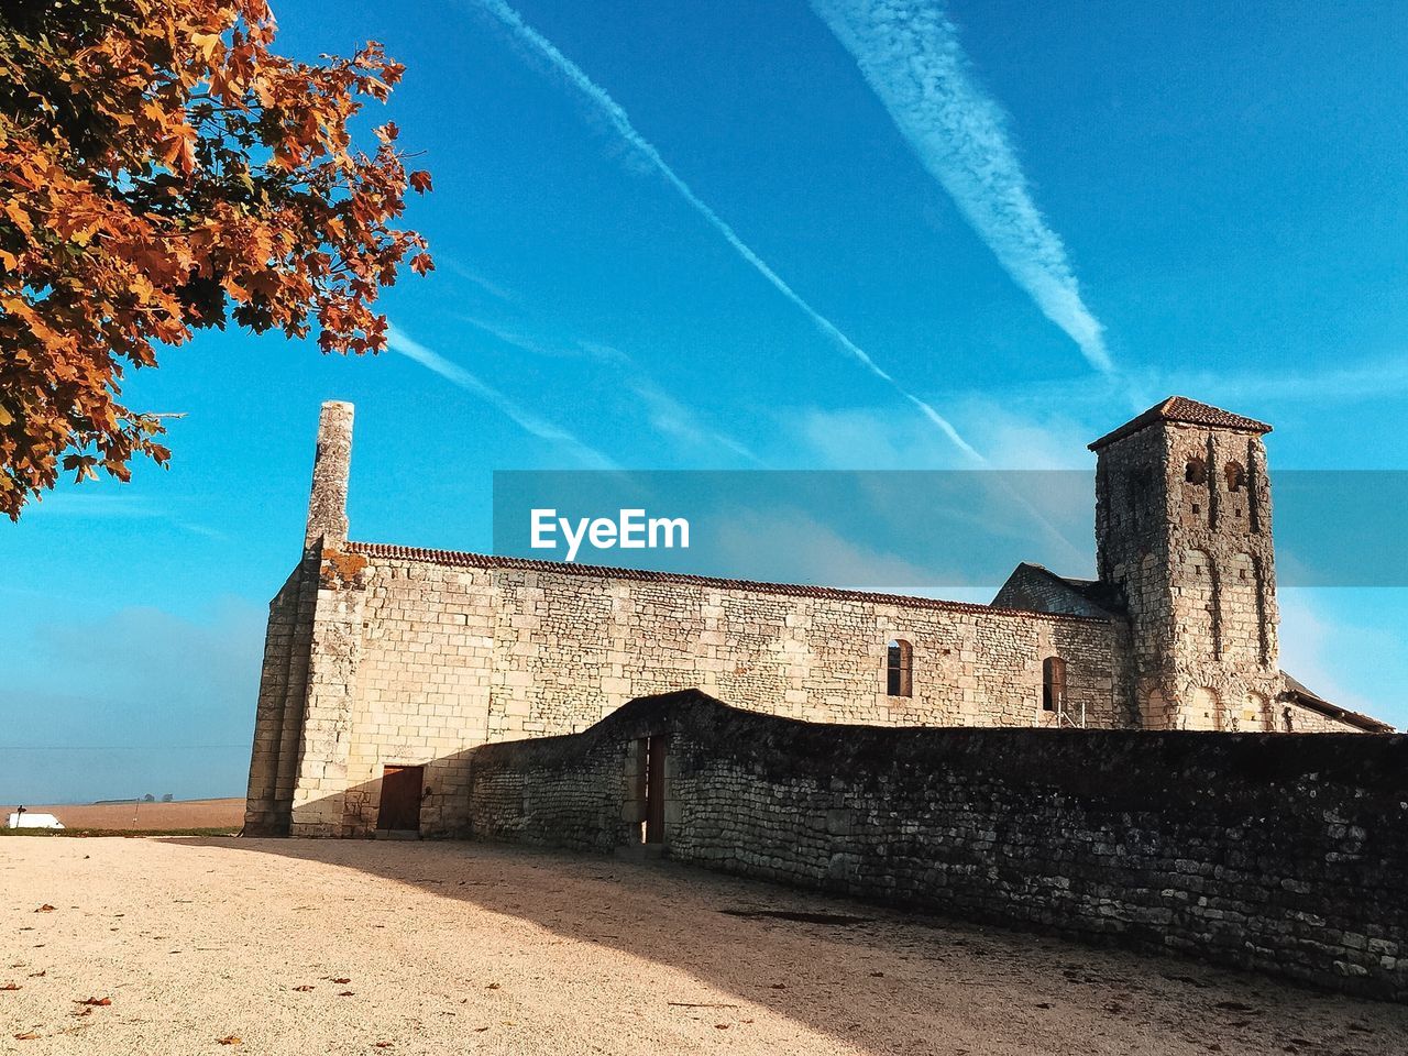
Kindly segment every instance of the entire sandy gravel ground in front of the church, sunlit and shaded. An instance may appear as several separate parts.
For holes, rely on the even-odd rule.
[[[476,843],[7,839],[0,936],[35,1056],[1408,1052],[1404,1007]]]

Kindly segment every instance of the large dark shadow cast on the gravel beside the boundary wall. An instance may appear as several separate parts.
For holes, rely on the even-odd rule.
[[[1408,1008],[681,866],[474,842],[180,839],[411,884],[677,969],[873,1053],[1401,1056]],[[375,891],[369,890],[373,898]],[[674,1001],[669,993],[662,1001]],[[689,995],[680,995],[683,1004]],[[704,1005],[705,1008],[708,1005]],[[939,1024],[949,1036],[935,1036]],[[1088,1042],[1088,1048],[1084,1043]],[[919,1048],[917,1048],[919,1046]],[[991,1049],[1010,1052],[1012,1049]]]

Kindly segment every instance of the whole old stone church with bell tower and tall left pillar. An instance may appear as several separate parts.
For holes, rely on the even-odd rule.
[[[455,834],[469,749],[693,687],[811,722],[1390,732],[1280,670],[1267,432],[1174,396],[1101,436],[1098,579],[1021,565],[980,605],[352,542],[327,403],[245,831]]]

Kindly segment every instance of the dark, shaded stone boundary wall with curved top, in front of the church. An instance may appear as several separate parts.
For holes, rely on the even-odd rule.
[[[1408,736],[895,729],[698,693],[467,753],[480,839],[665,843],[731,873],[1408,1000]]]

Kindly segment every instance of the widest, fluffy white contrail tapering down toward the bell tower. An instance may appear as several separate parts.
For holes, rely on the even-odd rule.
[[[919,162],[1021,289],[1102,373],[1104,327],[1086,307],[1060,237],[1032,200],[1007,114],[979,83],[935,0],[811,0]]]

